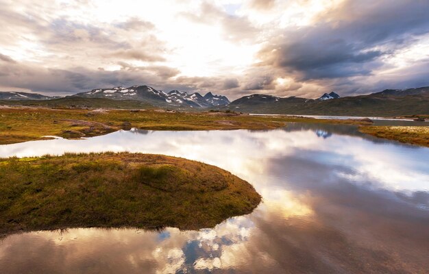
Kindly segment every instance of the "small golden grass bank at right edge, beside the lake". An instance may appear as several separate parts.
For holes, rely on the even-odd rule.
[[[397,140],[413,145],[429,147],[429,127],[377,126],[359,127],[359,131],[379,138]]]

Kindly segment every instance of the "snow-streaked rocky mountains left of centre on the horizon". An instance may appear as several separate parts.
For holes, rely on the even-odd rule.
[[[131,86],[123,88],[97,88],[88,92],[77,93],[78,97],[86,98],[109,98],[117,100],[138,100],[147,101],[156,106],[168,107],[190,107],[190,108],[209,108],[218,105],[228,105],[230,101],[225,96],[212,95],[208,92],[206,96],[201,96],[198,92],[189,95],[187,92],[171,90],[168,93],[162,90],[156,90],[150,86]]]

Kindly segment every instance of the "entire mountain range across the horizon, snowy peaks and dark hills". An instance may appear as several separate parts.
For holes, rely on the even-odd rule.
[[[0,92],[0,105],[45,105],[84,108],[173,108],[184,110],[232,110],[260,114],[312,114],[344,116],[402,116],[429,114],[429,87],[382,90],[370,95],[340,97],[325,93],[318,99],[275,97],[254,94],[232,102],[208,92],[188,94],[179,90],[166,93],[150,86],[97,88],[63,97],[47,97],[27,92]],[[19,103],[16,103],[19,101]],[[106,106],[103,106],[106,105]]]

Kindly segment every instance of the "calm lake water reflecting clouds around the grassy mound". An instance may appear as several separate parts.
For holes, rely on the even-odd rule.
[[[0,146],[0,157],[139,151],[215,164],[260,206],[214,229],[69,229],[8,236],[0,273],[428,273],[429,149],[345,125],[115,132]]]

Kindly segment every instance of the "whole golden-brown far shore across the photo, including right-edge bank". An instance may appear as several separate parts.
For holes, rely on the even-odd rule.
[[[330,123],[359,126],[360,132],[399,140],[412,145],[426,146],[427,131],[410,129],[426,125],[395,126],[374,125],[371,119],[352,116],[290,116],[284,114],[240,114],[236,112],[179,112],[169,110],[112,110],[112,109],[52,109],[52,108],[0,108],[0,145],[48,138],[88,138],[116,132],[119,129],[199,131],[199,130],[266,130],[287,126],[287,123]],[[378,121],[410,121],[380,118]],[[413,123],[413,122],[410,122]],[[416,122],[426,123],[426,122]],[[393,127],[393,126],[390,126]],[[400,129],[399,127],[402,127]],[[407,134],[408,138],[404,138]],[[382,132],[383,131],[383,132]],[[416,133],[417,132],[417,133]],[[54,137],[56,136],[56,137]],[[406,137],[406,136],[405,136]]]

